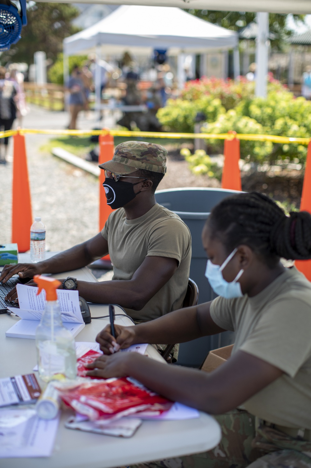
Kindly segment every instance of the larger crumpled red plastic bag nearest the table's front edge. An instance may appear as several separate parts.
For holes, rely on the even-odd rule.
[[[74,388],[60,390],[60,396],[68,406],[91,421],[111,421],[146,409],[159,414],[173,404],[128,377],[85,380]]]

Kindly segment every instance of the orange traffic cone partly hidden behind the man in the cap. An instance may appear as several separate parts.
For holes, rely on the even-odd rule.
[[[99,135],[99,164],[110,161],[114,154],[114,141],[110,133]],[[108,216],[111,213],[111,207],[107,205],[107,198],[103,183],[105,180],[105,171],[101,169],[99,175],[99,229],[103,229]],[[109,255],[103,257],[104,260],[110,260]]]

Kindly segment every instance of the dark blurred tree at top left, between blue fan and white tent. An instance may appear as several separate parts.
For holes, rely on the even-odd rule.
[[[79,31],[71,24],[80,14],[79,10],[67,3],[35,3],[27,5],[27,26],[22,28],[22,38],[12,44],[8,51],[2,52],[0,62],[33,63],[36,51],[44,51],[51,63],[62,51],[65,37]]]

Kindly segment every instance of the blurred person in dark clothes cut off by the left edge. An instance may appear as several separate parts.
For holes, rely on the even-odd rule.
[[[11,130],[16,118],[17,82],[6,79],[7,70],[0,67],[0,130]],[[10,78],[10,76],[9,76]],[[0,140],[0,164],[7,163],[8,137]]]

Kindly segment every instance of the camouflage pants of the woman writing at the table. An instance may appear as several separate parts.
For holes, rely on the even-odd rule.
[[[255,417],[239,409],[215,419],[222,427],[222,440],[209,452],[131,468],[311,468],[311,442],[266,426],[259,426],[256,432]]]

